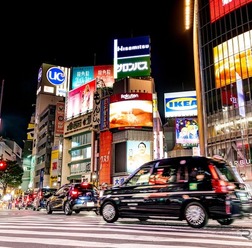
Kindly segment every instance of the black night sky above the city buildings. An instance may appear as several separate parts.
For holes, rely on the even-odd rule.
[[[164,93],[195,89],[192,30],[184,30],[184,0],[148,2],[88,2],[86,7],[85,2],[20,2],[15,4],[18,11],[1,6],[0,134],[23,147],[42,63],[113,64],[113,40],[137,36],[151,39],[151,76],[164,120]]]

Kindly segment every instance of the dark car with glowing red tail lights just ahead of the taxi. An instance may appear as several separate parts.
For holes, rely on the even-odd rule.
[[[99,191],[95,185],[87,182],[70,183],[60,187],[46,201],[47,214],[63,211],[66,215],[80,211],[95,211],[98,214]]]

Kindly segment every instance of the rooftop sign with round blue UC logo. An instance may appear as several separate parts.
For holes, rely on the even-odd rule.
[[[43,63],[38,72],[38,94],[66,97],[70,84],[70,68]]]

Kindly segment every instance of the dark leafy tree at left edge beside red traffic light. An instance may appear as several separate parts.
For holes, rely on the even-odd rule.
[[[24,174],[23,168],[17,161],[6,161],[6,170],[0,171],[0,184],[3,187],[3,195],[6,194],[8,187],[17,188],[22,184]]]

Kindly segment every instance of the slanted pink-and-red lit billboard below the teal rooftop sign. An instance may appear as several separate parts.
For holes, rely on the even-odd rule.
[[[68,92],[66,118],[86,114],[93,109],[96,80]]]

